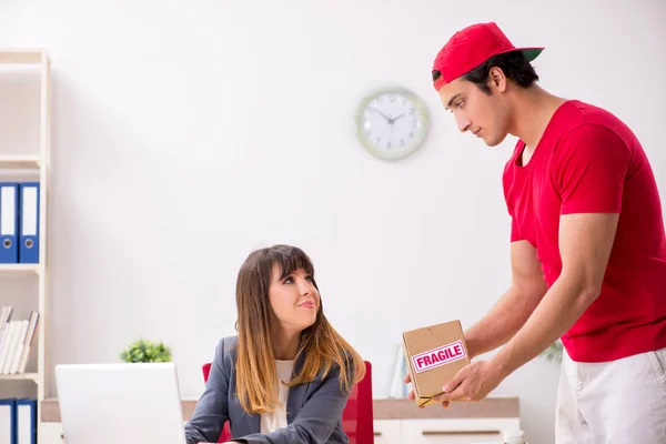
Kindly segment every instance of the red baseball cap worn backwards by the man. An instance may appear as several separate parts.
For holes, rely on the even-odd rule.
[[[516,48],[495,22],[476,23],[457,31],[440,50],[433,71],[442,75],[435,80],[435,90],[478,67],[493,56],[523,51],[528,61],[536,59],[544,48]]]

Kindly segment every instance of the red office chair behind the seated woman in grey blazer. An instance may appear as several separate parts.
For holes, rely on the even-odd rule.
[[[208,381],[211,371],[211,364],[203,364],[203,381]],[[342,411],[342,430],[350,438],[350,444],[373,444],[374,425],[372,410],[372,365],[365,361],[365,377],[354,385],[350,398]],[[220,436],[219,443],[231,440],[229,422],[224,424],[224,430]]]

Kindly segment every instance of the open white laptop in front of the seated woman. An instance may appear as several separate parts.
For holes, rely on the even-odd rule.
[[[56,365],[68,444],[185,444],[173,363]]]

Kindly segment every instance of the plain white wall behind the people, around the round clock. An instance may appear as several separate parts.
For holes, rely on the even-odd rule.
[[[403,330],[468,326],[508,283],[500,179],[515,140],[457,133],[431,87],[436,51],[487,20],[545,46],[542,84],[624,119],[666,196],[664,19],[659,0],[4,0],[0,47],[53,61],[50,364],[115,361],[143,335],[173,346],[182,395],[198,396],[200,364],[234,332],[242,260],[286,242],[314,259],[327,316],[381,395]],[[387,84],[433,120],[398,163],[364,152],[352,122]],[[521,396],[539,443],[557,376],[539,359],[495,392]]]

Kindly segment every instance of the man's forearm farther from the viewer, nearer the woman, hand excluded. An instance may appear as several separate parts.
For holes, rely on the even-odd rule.
[[[465,332],[470,356],[478,356],[506,344],[525,325],[545,291],[545,285],[523,290],[509,286],[491,311]]]

